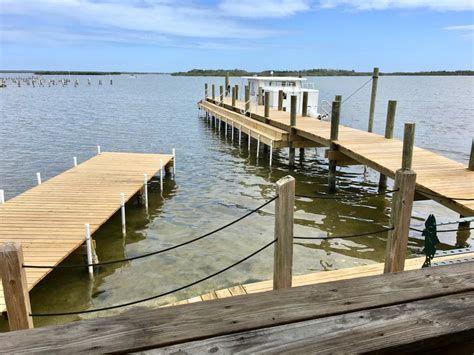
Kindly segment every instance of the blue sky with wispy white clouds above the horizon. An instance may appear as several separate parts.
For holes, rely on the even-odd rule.
[[[474,0],[0,0],[0,69],[474,69]]]

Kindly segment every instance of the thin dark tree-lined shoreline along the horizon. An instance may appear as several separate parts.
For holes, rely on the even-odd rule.
[[[354,70],[338,70],[338,69],[308,69],[300,71],[261,71],[248,72],[240,69],[193,69],[186,72],[101,72],[101,71],[64,71],[64,70],[0,70],[1,74],[33,74],[33,75],[171,75],[171,76],[371,76],[372,72],[357,72]],[[380,76],[474,76],[474,70],[437,70],[437,71],[417,71],[417,72],[380,72]]]

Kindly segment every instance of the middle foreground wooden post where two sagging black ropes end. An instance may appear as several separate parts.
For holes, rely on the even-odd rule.
[[[289,288],[293,269],[293,213],[295,179],[285,176],[276,182],[275,251],[273,260],[273,289]]]

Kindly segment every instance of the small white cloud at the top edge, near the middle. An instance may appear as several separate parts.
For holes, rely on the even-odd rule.
[[[228,16],[246,18],[280,18],[308,11],[308,0],[223,0],[219,9]]]

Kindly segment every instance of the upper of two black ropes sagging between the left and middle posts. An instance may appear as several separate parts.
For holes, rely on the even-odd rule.
[[[191,243],[194,243],[194,242],[197,242],[198,240],[201,240],[201,239],[204,239],[206,237],[209,237],[217,232],[220,232],[221,230],[223,229],[226,229],[227,227],[230,227],[231,225],[237,223],[237,222],[240,222],[241,220],[247,218],[248,216],[250,216],[251,214],[261,210],[263,207],[267,206],[268,204],[270,204],[271,202],[275,201],[276,199],[278,198],[278,196],[275,196],[273,197],[272,199],[270,199],[269,201],[265,202],[263,205],[251,210],[250,212],[246,213],[245,215],[233,220],[232,222],[229,222],[217,229],[214,229],[213,231],[211,232],[208,232],[206,234],[203,234],[199,237],[196,237],[194,239],[191,239],[191,240],[188,240],[186,242],[183,242],[181,244],[177,244],[177,245],[173,245],[172,247],[169,247],[169,248],[165,248],[165,249],[161,249],[161,250],[157,250],[157,251],[154,251],[154,252],[150,252],[150,253],[147,253],[147,254],[142,254],[142,255],[137,255],[137,256],[132,256],[130,258],[125,258],[125,259],[117,259],[117,260],[110,260],[110,261],[104,261],[104,262],[101,262],[101,263],[97,263],[97,264],[80,264],[80,265],[23,265],[24,268],[28,268],[28,269],[70,269],[70,268],[84,268],[84,267],[88,267],[88,266],[92,266],[92,267],[96,267],[96,266],[102,266],[102,265],[110,265],[110,264],[116,264],[116,263],[123,263],[123,262],[126,262],[126,261],[131,261],[131,260],[137,260],[137,259],[142,259],[142,258],[146,258],[148,256],[153,256],[153,255],[157,255],[157,254],[162,254],[162,253],[165,253],[167,251],[170,251],[170,250],[173,250],[173,249],[177,249],[177,248],[180,248],[182,246],[185,246],[185,245],[188,245],[188,244],[191,244]]]

